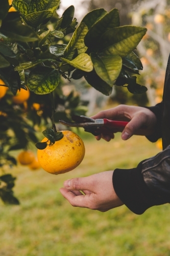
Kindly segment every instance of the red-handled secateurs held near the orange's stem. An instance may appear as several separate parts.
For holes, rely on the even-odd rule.
[[[72,116],[74,122],[66,122],[64,120],[59,120],[61,124],[70,127],[83,127],[85,132],[89,132],[94,136],[100,134],[107,134],[109,132],[122,132],[125,126],[128,124],[127,121],[113,121],[108,119],[92,119],[86,116]],[[143,127],[144,128],[144,127]],[[151,130],[140,129],[137,131],[136,135],[150,135]]]

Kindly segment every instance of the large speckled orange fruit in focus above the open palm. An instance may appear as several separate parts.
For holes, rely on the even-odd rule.
[[[64,137],[55,144],[37,151],[41,167],[51,174],[64,174],[76,168],[83,160],[85,147],[82,139],[70,131],[62,131]],[[44,138],[41,142],[47,141]]]

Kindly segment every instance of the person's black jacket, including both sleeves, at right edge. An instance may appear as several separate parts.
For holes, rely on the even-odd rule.
[[[162,138],[163,151],[143,160],[136,168],[115,169],[113,187],[120,200],[135,214],[154,205],[170,203],[170,55],[168,58],[162,102],[148,108],[157,117],[152,136]]]

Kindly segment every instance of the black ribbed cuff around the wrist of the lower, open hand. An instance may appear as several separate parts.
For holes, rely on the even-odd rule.
[[[162,204],[148,188],[141,174],[141,165],[132,169],[115,169],[113,187],[118,198],[135,214],[143,214],[145,210]]]

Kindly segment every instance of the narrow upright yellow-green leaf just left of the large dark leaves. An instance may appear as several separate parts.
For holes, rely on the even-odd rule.
[[[81,23],[76,29],[75,33],[72,35],[65,51],[64,58],[71,60],[72,56],[75,53],[75,49],[78,49],[78,54],[84,53],[87,50],[87,47],[84,44],[84,37],[88,31],[85,23]]]

